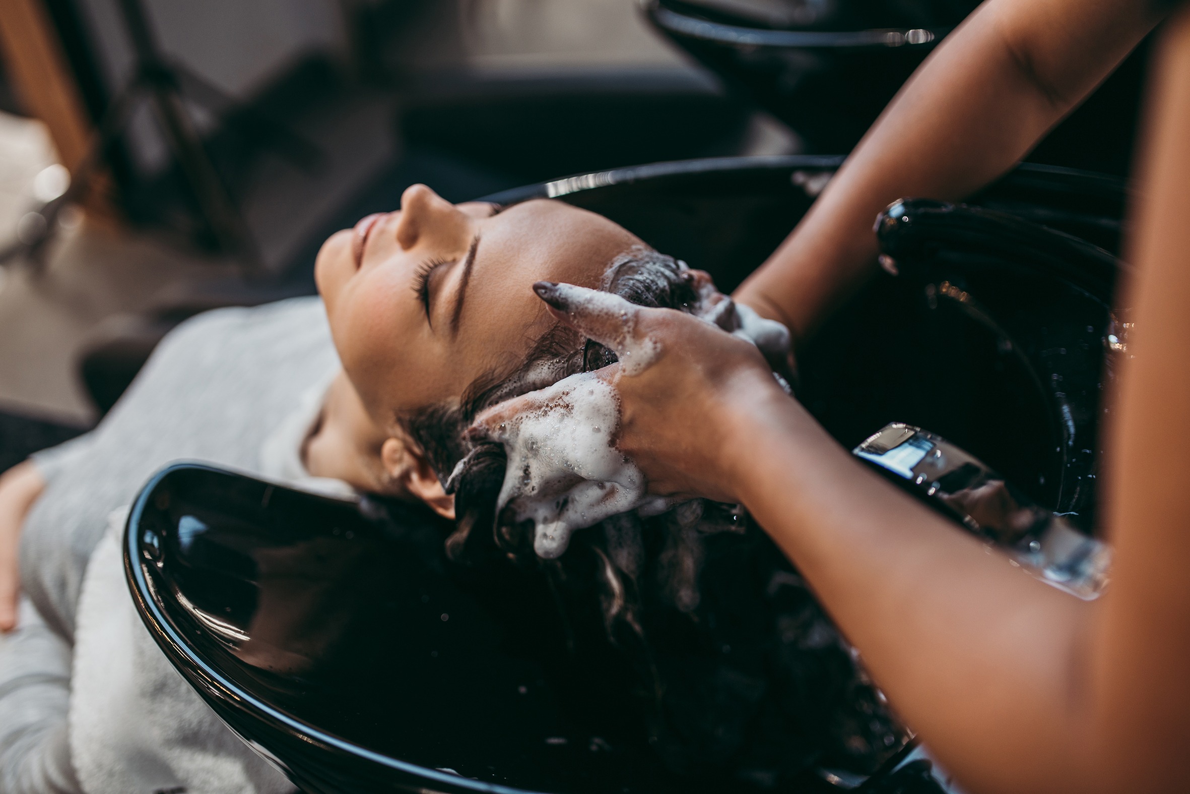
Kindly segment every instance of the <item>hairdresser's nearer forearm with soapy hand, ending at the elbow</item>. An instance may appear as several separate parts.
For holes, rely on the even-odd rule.
[[[1082,686],[1096,607],[1034,581],[864,468],[747,342],[688,314],[626,301],[591,313],[580,288],[538,289],[559,320],[618,352],[639,358],[645,338],[659,344],[637,375],[601,370],[620,394],[616,445],[653,493],[743,501],[964,784],[1098,790]],[[477,421],[491,430],[533,400]]]

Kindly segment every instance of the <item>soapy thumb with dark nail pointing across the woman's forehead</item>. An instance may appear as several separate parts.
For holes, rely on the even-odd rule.
[[[625,375],[634,375],[657,360],[660,345],[640,330],[643,307],[612,293],[552,281],[538,281],[533,290],[555,317],[609,348]]]

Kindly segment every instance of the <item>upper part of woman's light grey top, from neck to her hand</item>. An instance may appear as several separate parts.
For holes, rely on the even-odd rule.
[[[25,521],[20,573],[46,624],[74,634],[107,515],[155,471],[180,459],[258,471],[264,439],[337,367],[317,298],[207,312],[165,337],[99,427],[33,456],[46,488]]]

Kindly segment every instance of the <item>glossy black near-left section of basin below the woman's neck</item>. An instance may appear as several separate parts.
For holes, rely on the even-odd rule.
[[[689,790],[602,661],[562,652],[544,583],[469,581],[422,511],[182,464],[129,526],[162,649],[303,790]]]

